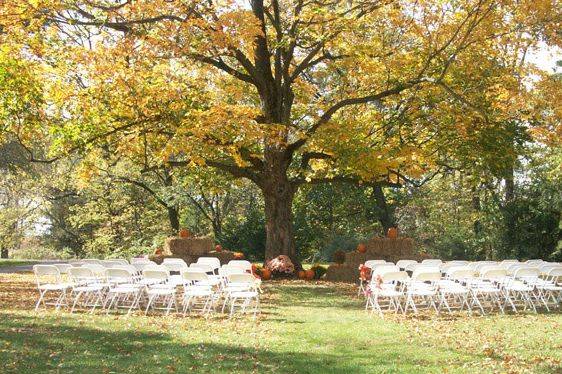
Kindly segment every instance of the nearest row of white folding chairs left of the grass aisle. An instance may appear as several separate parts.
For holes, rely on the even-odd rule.
[[[91,265],[91,264],[90,264]],[[139,309],[141,302],[146,305],[145,313],[149,309],[164,309],[168,314],[172,308],[177,310],[176,286],[169,271],[164,268],[147,268],[142,277],[138,278],[130,270],[123,267],[109,268],[102,276],[96,274],[88,266],[69,269],[71,283],[64,282],[56,266],[36,265],[34,267],[40,297],[36,310],[41,304],[47,305],[45,295],[52,291],[58,295],[53,305],[59,309],[67,304],[67,293],[72,298],[71,312],[76,306],[91,308],[102,307],[108,313],[112,309],[126,308],[127,313]],[[45,279],[49,277],[49,279]],[[215,301],[224,298],[222,311],[227,304],[232,316],[238,307],[246,312],[253,304],[254,316],[259,308],[259,284],[249,273],[229,274],[224,279],[224,285],[204,271],[191,268],[181,274],[183,285],[183,312],[191,312],[198,306],[204,314],[214,308]],[[160,307],[159,307],[160,306]]]

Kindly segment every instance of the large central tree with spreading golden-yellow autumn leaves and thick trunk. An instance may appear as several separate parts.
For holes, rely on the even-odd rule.
[[[266,258],[295,257],[305,183],[395,186],[501,154],[489,135],[536,113],[526,52],[560,43],[561,15],[554,0],[8,0],[0,12],[2,42],[43,62],[54,157],[110,145],[147,170],[247,178],[265,200]]]

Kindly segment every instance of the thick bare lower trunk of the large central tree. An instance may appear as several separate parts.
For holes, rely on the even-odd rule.
[[[265,201],[265,259],[270,260],[279,255],[287,255],[295,266],[297,252],[293,232],[293,197],[296,188],[286,175],[270,175],[262,188]]]

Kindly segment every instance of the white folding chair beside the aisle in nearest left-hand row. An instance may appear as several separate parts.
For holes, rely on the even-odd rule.
[[[224,291],[230,304],[230,317],[234,315],[236,307],[239,307],[240,313],[245,313],[251,304],[253,304],[254,317],[257,315],[260,299],[256,278],[252,274],[228,275]]]

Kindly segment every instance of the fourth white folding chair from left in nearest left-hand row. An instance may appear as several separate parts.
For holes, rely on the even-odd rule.
[[[170,277],[168,270],[144,269],[142,275],[148,299],[144,314],[148,314],[149,309],[165,310],[166,315],[170,314],[172,307],[177,311],[176,288],[175,285],[168,284]]]

